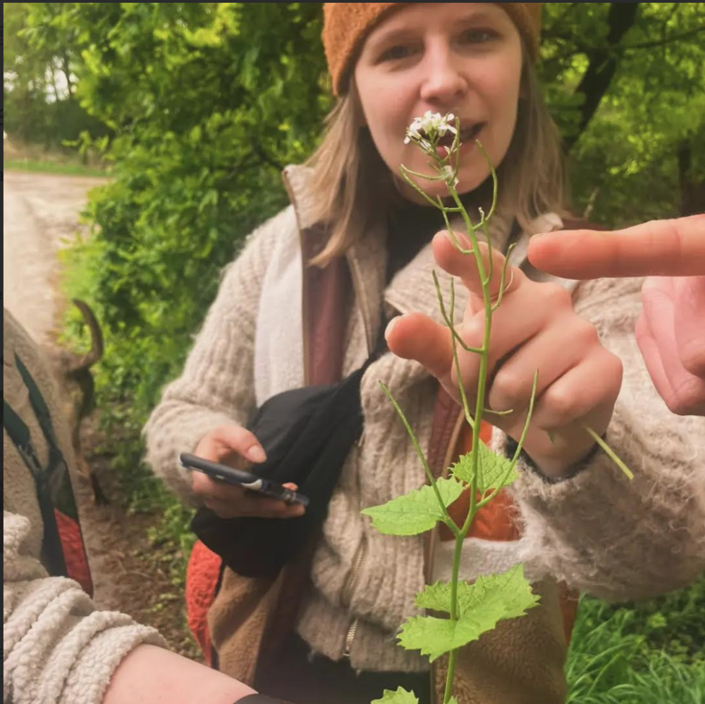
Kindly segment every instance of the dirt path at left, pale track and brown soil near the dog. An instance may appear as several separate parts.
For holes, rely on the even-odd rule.
[[[54,344],[61,313],[58,254],[78,230],[87,193],[102,179],[6,171],[3,184],[3,303],[41,344]],[[76,494],[94,581],[94,599],[103,609],[126,612],[157,626],[172,648],[197,656],[188,637],[183,595],[170,565],[175,555],[149,542],[161,516],[128,515],[111,456],[102,454],[97,418],[85,429],[87,461],[110,499],[97,506],[87,482]]]

